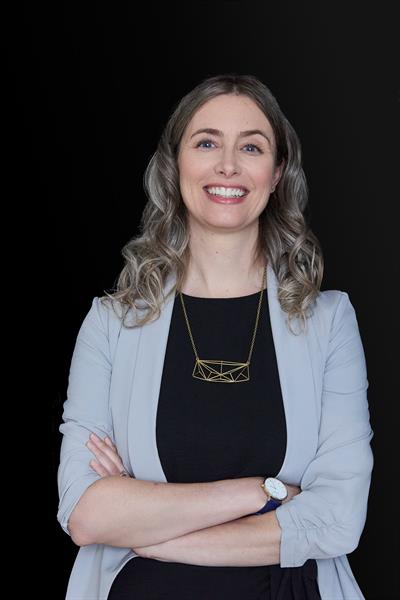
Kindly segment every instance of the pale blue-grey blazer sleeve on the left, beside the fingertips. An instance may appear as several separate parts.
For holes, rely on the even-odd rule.
[[[112,439],[109,410],[111,357],[108,310],[99,298],[93,300],[79,330],[68,380],[60,431],[58,468],[59,508],[57,519],[66,533],[68,519],[85,490],[100,476],[90,467],[94,455],[86,447],[90,433]]]

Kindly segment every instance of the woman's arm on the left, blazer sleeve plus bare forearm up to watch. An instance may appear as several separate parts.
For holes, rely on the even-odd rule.
[[[164,542],[261,509],[261,477],[170,484],[91,467],[92,432],[113,438],[109,407],[112,359],[106,307],[95,299],[79,331],[64,404],[58,519],[78,545],[135,547]],[[124,460],[126,457],[121,457]]]

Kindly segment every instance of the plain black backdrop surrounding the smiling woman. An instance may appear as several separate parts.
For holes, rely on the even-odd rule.
[[[76,553],[56,521],[56,469],[79,326],[122,268],[120,249],[145,203],[143,172],[173,105],[201,79],[237,72],[260,77],[296,129],[324,250],[322,289],[348,292],[356,309],[375,467],[349,559],[367,599],[398,597],[395,3],[55,4],[26,3],[3,23],[3,181],[15,212],[3,224],[13,236],[5,283],[25,317],[20,379],[38,364],[19,396],[21,425],[35,432],[36,508],[22,513],[22,528],[34,518],[31,556],[37,549],[41,568],[52,565],[46,591],[64,597]]]

